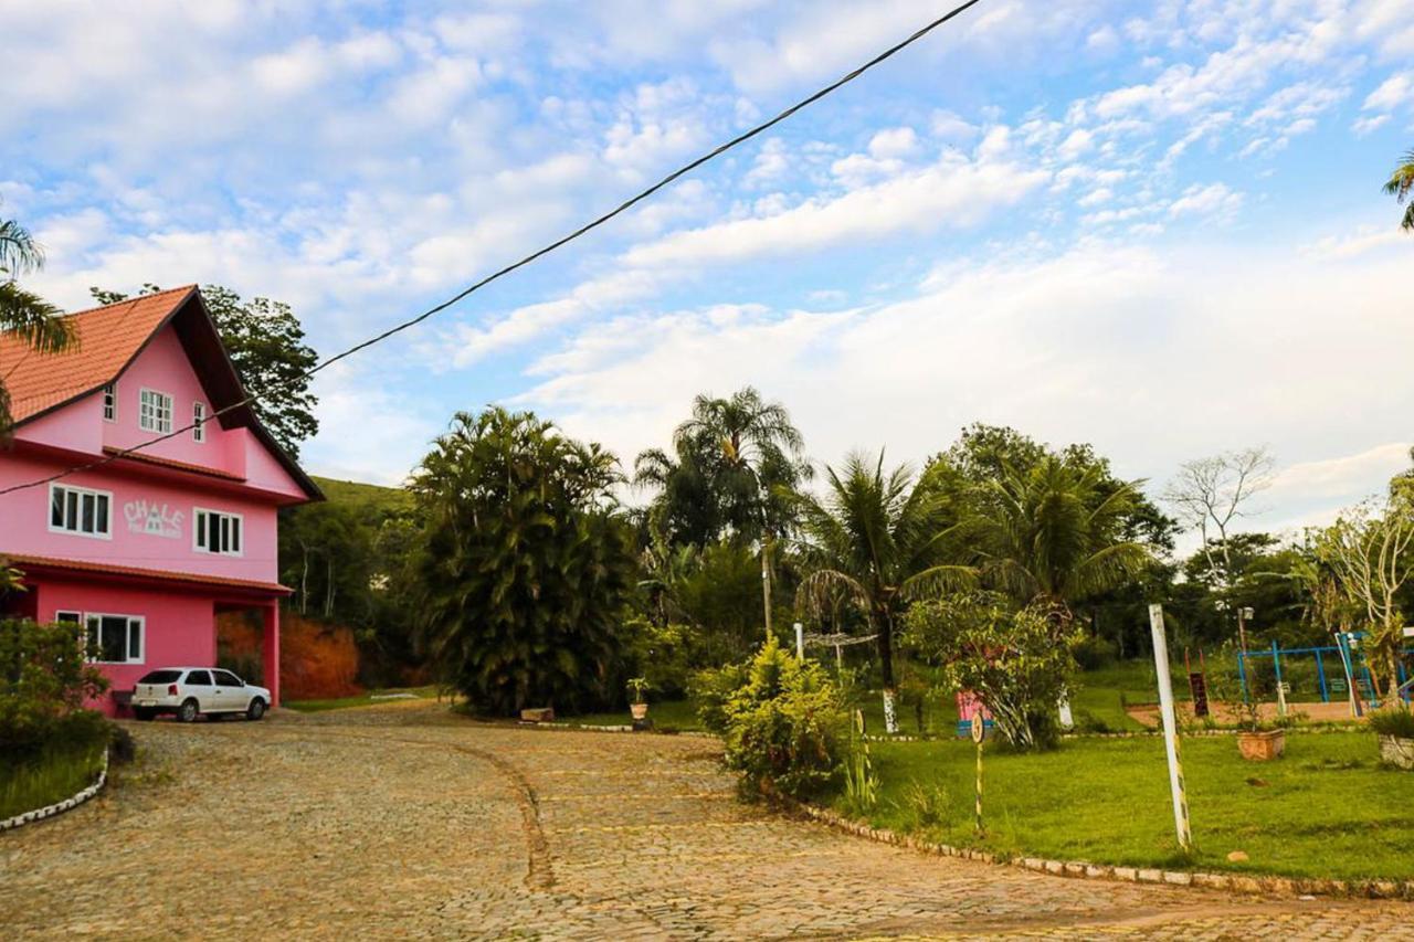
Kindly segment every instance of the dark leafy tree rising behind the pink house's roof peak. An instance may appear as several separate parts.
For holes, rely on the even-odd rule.
[[[160,290],[156,284],[144,284],[139,294]],[[90,287],[89,294],[99,304],[116,304],[129,297],[96,287]],[[320,356],[304,342],[298,318],[283,301],[264,297],[245,301],[221,284],[204,286],[201,296],[246,392],[263,396],[250,403],[260,424],[291,458],[298,458],[300,444],[320,430],[314,417],[318,400],[310,392],[311,378],[307,376]]]

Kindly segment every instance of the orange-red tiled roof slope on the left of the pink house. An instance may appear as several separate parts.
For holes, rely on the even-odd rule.
[[[0,379],[16,424],[113,382],[194,290],[188,284],[65,314],[79,342],[62,354],[40,354],[14,334],[0,334]]]

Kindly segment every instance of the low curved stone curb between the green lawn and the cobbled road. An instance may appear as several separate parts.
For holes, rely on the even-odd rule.
[[[1121,883],[1148,883],[1175,887],[1202,887],[1205,890],[1227,890],[1256,895],[1322,895],[1363,897],[1370,900],[1414,900],[1414,880],[1314,880],[1305,877],[1273,877],[1260,874],[1198,873],[1188,870],[1158,870],[1152,867],[1113,867],[1083,860],[1046,860],[1044,857],[1005,859],[987,850],[953,847],[911,835],[872,827],[817,805],[807,805],[790,798],[776,796],[788,809],[820,822],[836,830],[865,837],[884,844],[908,847],[925,854],[980,860],[981,863],[1018,867],[1035,873],[1065,877],[1069,880],[1111,880]]]

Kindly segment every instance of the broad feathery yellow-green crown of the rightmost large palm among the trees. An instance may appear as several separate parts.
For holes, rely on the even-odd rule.
[[[1070,603],[1150,562],[1143,543],[1123,539],[1138,491],[1116,487],[1099,465],[1052,454],[1025,472],[1004,468],[984,489],[969,521],[980,570],[1021,604],[1049,604],[1069,620]]]

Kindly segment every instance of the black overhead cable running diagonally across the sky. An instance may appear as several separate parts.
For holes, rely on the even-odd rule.
[[[457,294],[451,296],[450,298],[447,298],[445,301],[443,301],[440,304],[436,304],[434,307],[427,308],[421,314],[417,314],[416,317],[411,317],[411,318],[409,318],[409,320],[406,320],[406,321],[403,321],[400,324],[395,324],[393,327],[389,327],[382,334],[370,337],[370,338],[368,338],[368,339],[365,339],[362,342],[359,342],[359,344],[355,344],[354,347],[349,347],[348,349],[345,349],[341,354],[335,354],[334,356],[329,356],[328,359],[325,359],[325,361],[314,365],[307,372],[304,372],[304,373],[301,373],[298,376],[293,376],[293,378],[290,378],[287,380],[283,380],[280,383],[276,383],[273,386],[267,386],[267,388],[262,389],[259,393],[249,393],[249,395],[246,395],[245,399],[240,399],[240,400],[233,402],[233,403],[230,403],[228,406],[223,406],[222,409],[218,409],[218,410],[212,412],[202,421],[204,423],[205,421],[211,421],[212,419],[223,416],[228,412],[232,412],[235,409],[240,409],[243,406],[249,406],[253,402],[257,402],[257,400],[266,399],[269,396],[273,396],[274,393],[280,392],[286,386],[288,386],[291,383],[296,383],[296,382],[298,382],[301,379],[308,379],[310,376],[314,376],[314,373],[325,369],[327,366],[332,366],[334,364],[339,362],[341,359],[346,359],[346,358],[352,356],[354,354],[358,354],[359,351],[363,351],[363,349],[368,349],[369,347],[373,347],[375,344],[382,344],[387,338],[390,338],[390,337],[393,337],[396,334],[402,334],[403,331],[421,324],[423,321],[428,320],[430,317],[434,317],[436,314],[440,314],[441,311],[445,311],[448,307],[452,307],[454,304],[461,303],[468,296],[471,296],[475,291],[479,291],[481,289],[486,287],[492,281],[496,281],[496,280],[499,280],[499,279],[510,274],[516,269],[525,267],[525,266],[530,264],[532,262],[534,262],[536,259],[539,259],[542,256],[546,256],[546,255],[550,255],[556,249],[559,249],[559,248],[561,248],[561,246],[564,246],[564,245],[567,245],[570,242],[574,242],[580,236],[591,232],[592,229],[597,229],[597,228],[602,226],[609,219],[612,219],[612,218],[615,218],[615,216],[618,216],[618,215],[621,215],[624,212],[628,212],[635,205],[643,202],[645,199],[648,199],[649,197],[652,197],[653,194],[656,194],[659,190],[662,190],[663,187],[667,187],[669,184],[674,182],[680,177],[684,177],[684,175],[690,174],[691,171],[697,170],[703,164],[706,164],[706,163],[708,163],[711,160],[715,160],[717,157],[725,154],[728,150],[732,150],[734,147],[738,147],[738,146],[747,143],[752,137],[764,134],[765,132],[771,130],[776,124],[779,124],[783,120],[786,120],[790,116],[793,116],[796,112],[799,112],[799,110],[802,110],[805,107],[809,107],[810,105],[819,102],[822,98],[824,98],[824,96],[827,96],[827,95],[839,91],[840,88],[843,88],[846,85],[848,85],[854,79],[860,78],[861,75],[864,75],[865,72],[868,72],[870,69],[872,69],[875,65],[880,65],[885,59],[889,59],[889,58],[895,57],[896,54],[902,52],[908,47],[913,45],[915,42],[918,42],[919,40],[922,40],[923,37],[926,37],[929,33],[932,33],[933,30],[936,30],[937,27],[943,25],[945,23],[947,23],[949,20],[953,20],[957,16],[962,16],[963,13],[966,13],[971,7],[977,6],[978,3],[981,3],[981,0],[967,0],[967,3],[962,3],[962,4],[956,6],[956,7],[953,7],[952,10],[949,10],[947,13],[945,13],[943,16],[937,17],[936,20],[933,20],[932,23],[928,23],[926,25],[923,25],[919,30],[916,30],[908,38],[905,38],[905,40],[902,40],[899,42],[895,42],[889,48],[884,50],[882,52],[880,52],[878,55],[875,55],[874,58],[871,58],[868,62],[865,62],[864,65],[860,65],[858,68],[847,72],[846,75],[841,75],[840,78],[837,78],[836,81],[830,82],[829,85],[826,85],[824,88],[819,89],[817,92],[809,95],[807,98],[800,99],[799,102],[796,102],[790,107],[785,109],[783,112],[781,112],[775,117],[756,124],[751,130],[747,130],[747,132],[742,132],[741,134],[737,134],[735,137],[732,137],[727,143],[714,147],[713,150],[707,151],[701,157],[699,157],[699,158],[696,158],[696,160],[693,160],[693,161],[690,161],[687,164],[683,164],[682,167],[679,167],[673,173],[667,174],[666,177],[663,177],[658,182],[655,182],[648,190],[643,190],[643,191],[638,192],[636,195],[629,197],[628,199],[625,199],[624,202],[621,202],[614,209],[609,209],[604,215],[592,219],[591,222],[584,223],[583,226],[580,226],[574,232],[570,232],[568,235],[564,235],[564,236],[556,239],[554,242],[551,242],[551,243],[549,243],[549,245],[546,245],[546,246],[543,246],[540,249],[536,249],[530,255],[522,257],[518,262],[512,262],[510,264],[505,266],[503,269],[498,269],[496,272],[492,272],[491,274],[485,276],[479,281],[475,281],[474,284],[467,286],[465,289],[462,289]],[[192,423],[189,423],[187,426],[182,426],[181,429],[175,429],[175,430],[168,431],[165,434],[161,434],[161,436],[158,436],[156,438],[150,438],[148,441],[144,441],[141,444],[136,444],[136,446],[133,446],[130,448],[123,448],[120,451],[113,451],[113,453],[107,454],[106,457],[103,457],[103,458],[100,458],[98,461],[90,461],[89,464],[81,464],[81,465],[68,468],[65,471],[59,471],[57,474],[51,474],[49,477],[45,477],[45,478],[38,478],[38,479],[34,479],[34,481],[27,481],[24,484],[11,484],[7,488],[0,488],[0,496],[3,496],[6,494],[13,494],[14,491],[24,491],[27,488],[42,487],[45,484],[49,484],[52,481],[58,481],[58,479],[65,478],[65,477],[68,477],[71,474],[78,474],[81,471],[92,471],[95,468],[100,468],[100,467],[103,467],[106,464],[110,464],[110,463],[119,460],[119,458],[124,458],[127,455],[136,454],[137,451],[143,451],[144,448],[148,448],[148,447],[157,444],[158,441],[165,441],[168,438],[175,438],[180,434],[185,434],[185,433],[191,431],[192,429],[195,429],[197,424],[198,423],[192,421]]]

